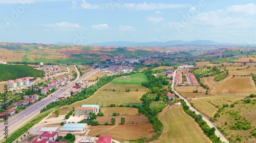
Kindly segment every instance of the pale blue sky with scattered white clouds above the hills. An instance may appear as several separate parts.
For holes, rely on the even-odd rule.
[[[0,0],[0,42],[256,44],[256,2]]]

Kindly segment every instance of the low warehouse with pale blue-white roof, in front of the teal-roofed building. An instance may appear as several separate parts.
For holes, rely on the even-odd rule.
[[[87,128],[86,123],[66,123],[62,128],[59,129],[59,132],[75,132],[81,133]]]

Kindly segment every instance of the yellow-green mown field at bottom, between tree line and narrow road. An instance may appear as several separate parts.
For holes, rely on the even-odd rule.
[[[211,142],[181,106],[164,108],[158,118],[163,123],[164,130],[159,139],[152,142]]]

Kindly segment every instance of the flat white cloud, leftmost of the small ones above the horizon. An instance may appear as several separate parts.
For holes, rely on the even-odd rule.
[[[54,24],[44,24],[44,26],[49,28],[54,28],[57,31],[76,31],[76,30],[86,30],[86,28],[80,26],[77,23],[69,22],[59,22]]]

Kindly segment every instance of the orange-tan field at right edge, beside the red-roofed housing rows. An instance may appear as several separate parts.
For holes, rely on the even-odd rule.
[[[231,72],[231,71],[230,71]],[[244,94],[256,93],[255,84],[250,76],[248,77],[227,77],[221,81],[214,81],[214,77],[201,78],[201,82],[210,88],[209,94]]]

